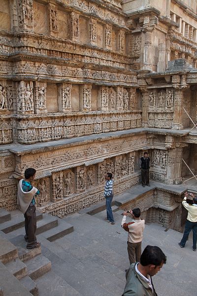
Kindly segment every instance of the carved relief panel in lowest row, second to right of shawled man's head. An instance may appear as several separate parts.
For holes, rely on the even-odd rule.
[[[63,199],[63,172],[52,174],[52,201]]]

